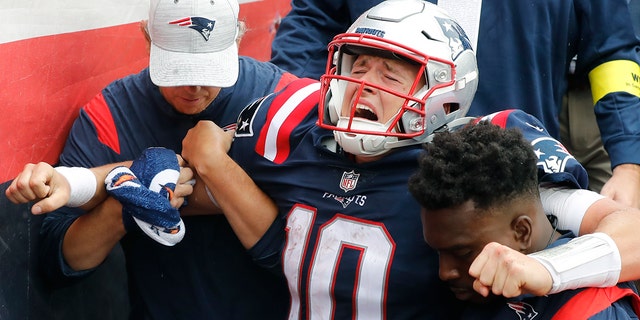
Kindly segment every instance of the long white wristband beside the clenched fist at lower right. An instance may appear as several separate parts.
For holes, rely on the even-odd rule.
[[[553,286],[549,294],[584,287],[610,287],[618,283],[622,261],[613,239],[605,233],[577,237],[564,245],[545,249],[530,257],[549,271]]]

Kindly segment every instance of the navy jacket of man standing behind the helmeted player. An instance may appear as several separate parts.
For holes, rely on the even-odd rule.
[[[271,61],[298,76],[319,78],[327,65],[329,41],[380,2],[292,1],[292,10],[274,38]],[[484,0],[481,4],[480,81],[469,115],[521,109],[559,138],[558,116],[571,59],[578,55],[576,73],[580,75],[598,66],[606,69],[611,66],[607,62],[632,61],[596,75],[600,83],[593,89],[604,94],[596,94],[595,111],[612,166],[640,164],[636,152],[640,150],[640,40],[634,35],[627,0]],[[622,84],[600,87],[610,79],[624,79],[625,88]]]

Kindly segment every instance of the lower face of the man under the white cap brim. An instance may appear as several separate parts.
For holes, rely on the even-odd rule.
[[[204,111],[218,96],[220,90],[219,87],[207,86],[160,87],[162,96],[174,109],[188,115]]]

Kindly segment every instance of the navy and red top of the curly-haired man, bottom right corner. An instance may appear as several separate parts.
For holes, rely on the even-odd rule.
[[[573,237],[573,233],[567,232],[550,247],[566,243]],[[610,288],[582,288],[540,297],[494,298],[492,302],[468,305],[461,319],[638,319],[635,312],[640,311],[636,288],[629,282]]]

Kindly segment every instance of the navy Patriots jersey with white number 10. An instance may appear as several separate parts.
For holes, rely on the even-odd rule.
[[[316,126],[319,88],[301,79],[247,107],[230,150],[276,202],[284,220],[276,225],[286,225],[284,243],[268,232],[255,258],[284,248],[290,319],[455,317],[457,301],[438,278],[437,253],[423,239],[420,205],[407,188],[423,149],[399,148],[380,160],[355,163],[336,151],[330,131]],[[549,138],[522,111],[491,119],[522,126],[534,141]],[[545,180],[556,171],[556,182],[586,186],[584,169],[557,141],[536,147],[542,158],[564,159],[553,169],[541,168]]]

